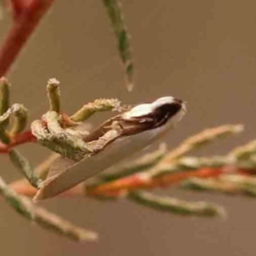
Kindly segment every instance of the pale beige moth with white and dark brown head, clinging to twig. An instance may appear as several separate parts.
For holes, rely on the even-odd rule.
[[[84,142],[94,148],[93,154],[79,161],[60,156],[50,166],[33,200],[59,195],[146,148],[172,129],[184,113],[186,106],[182,100],[165,96],[108,119],[84,137]]]

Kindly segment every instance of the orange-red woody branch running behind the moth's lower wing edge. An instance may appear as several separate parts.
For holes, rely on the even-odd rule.
[[[248,174],[247,170],[237,170],[236,173],[239,173],[241,175]],[[119,195],[122,195],[122,193],[126,190],[131,191],[134,189],[154,189],[158,187],[167,187],[182,182],[183,180],[189,177],[201,177],[207,179],[209,177],[218,177],[221,174],[224,174],[224,168],[201,168],[195,171],[169,173],[161,177],[154,177],[148,180],[141,178],[137,174],[134,174],[129,177],[123,177],[120,178],[119,180],[105,183],[93,188],[87,188],[86,195],[103,195],[110,197],[119,197]],[[15,189],[15,191],[21,195],[32,197],[37,192],[37,189],[32,188],[32,186],[29,183],[27,183],[26,180],[16,181],[14,183],[11,183],[10,186],[12,189]],[[73,189],[69,189],[61,194],[61,196],[78,195],[84,195],[83,183],[80,183]]]

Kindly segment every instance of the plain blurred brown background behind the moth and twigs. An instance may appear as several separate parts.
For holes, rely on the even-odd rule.
[[[179,96],[189,113],[166,136],[170,147],[214,125],[242,123],[246,132],[198,154],[224,154],[255,137],[256,3],[229,0],[123,1],[132,35],[137,86],[125,90],[113,33],[101,1],[56,1],[9,75],[13,102],[38,118],[47,109],[45,84],[61,80],[63,107],[72,113],[98,97],[123,102]],[[1,35],[8,18],[1,23]],[[254,102],[254,103],[253,103]],[[99,114],[95,122],[106,118]],[[36,165],[49,153],[37,145],[22,152]],[[20,177],[1,156],[1,175]],[[4,255],[254,255],[256,201],[240,196],[196,194],[168,189],[169,195],[218,202],[229,218],[178,218],[130,202],[53,199],[45,207],[76,224],[97,230],[100,241],[77,244],[28,224],[1,204]]]

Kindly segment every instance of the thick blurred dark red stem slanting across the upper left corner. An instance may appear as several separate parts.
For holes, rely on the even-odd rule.
[[[27,1],[25,2],[27,3]],[[15,8],[13,9],[15,18],[0,49],[0,77],[3,77],[9,71],[20,50],[54,0],[32,0],[29,4],[24,5],[23,11],[20,12],[21,3],[25,2],[18,0],[12,0],[11,2],[11,7]],[[18,12],[20,12],[20,15],[18,15]]]

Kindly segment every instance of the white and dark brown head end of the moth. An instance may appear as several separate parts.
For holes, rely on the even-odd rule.
[[[176,125],[186,113],[186,105],[182,100],[173,96],[165,96],[152,103],[145,103],[131,108],[123,113],[122,118],[127,121],[151,123],[152,128],[166,124]]]

